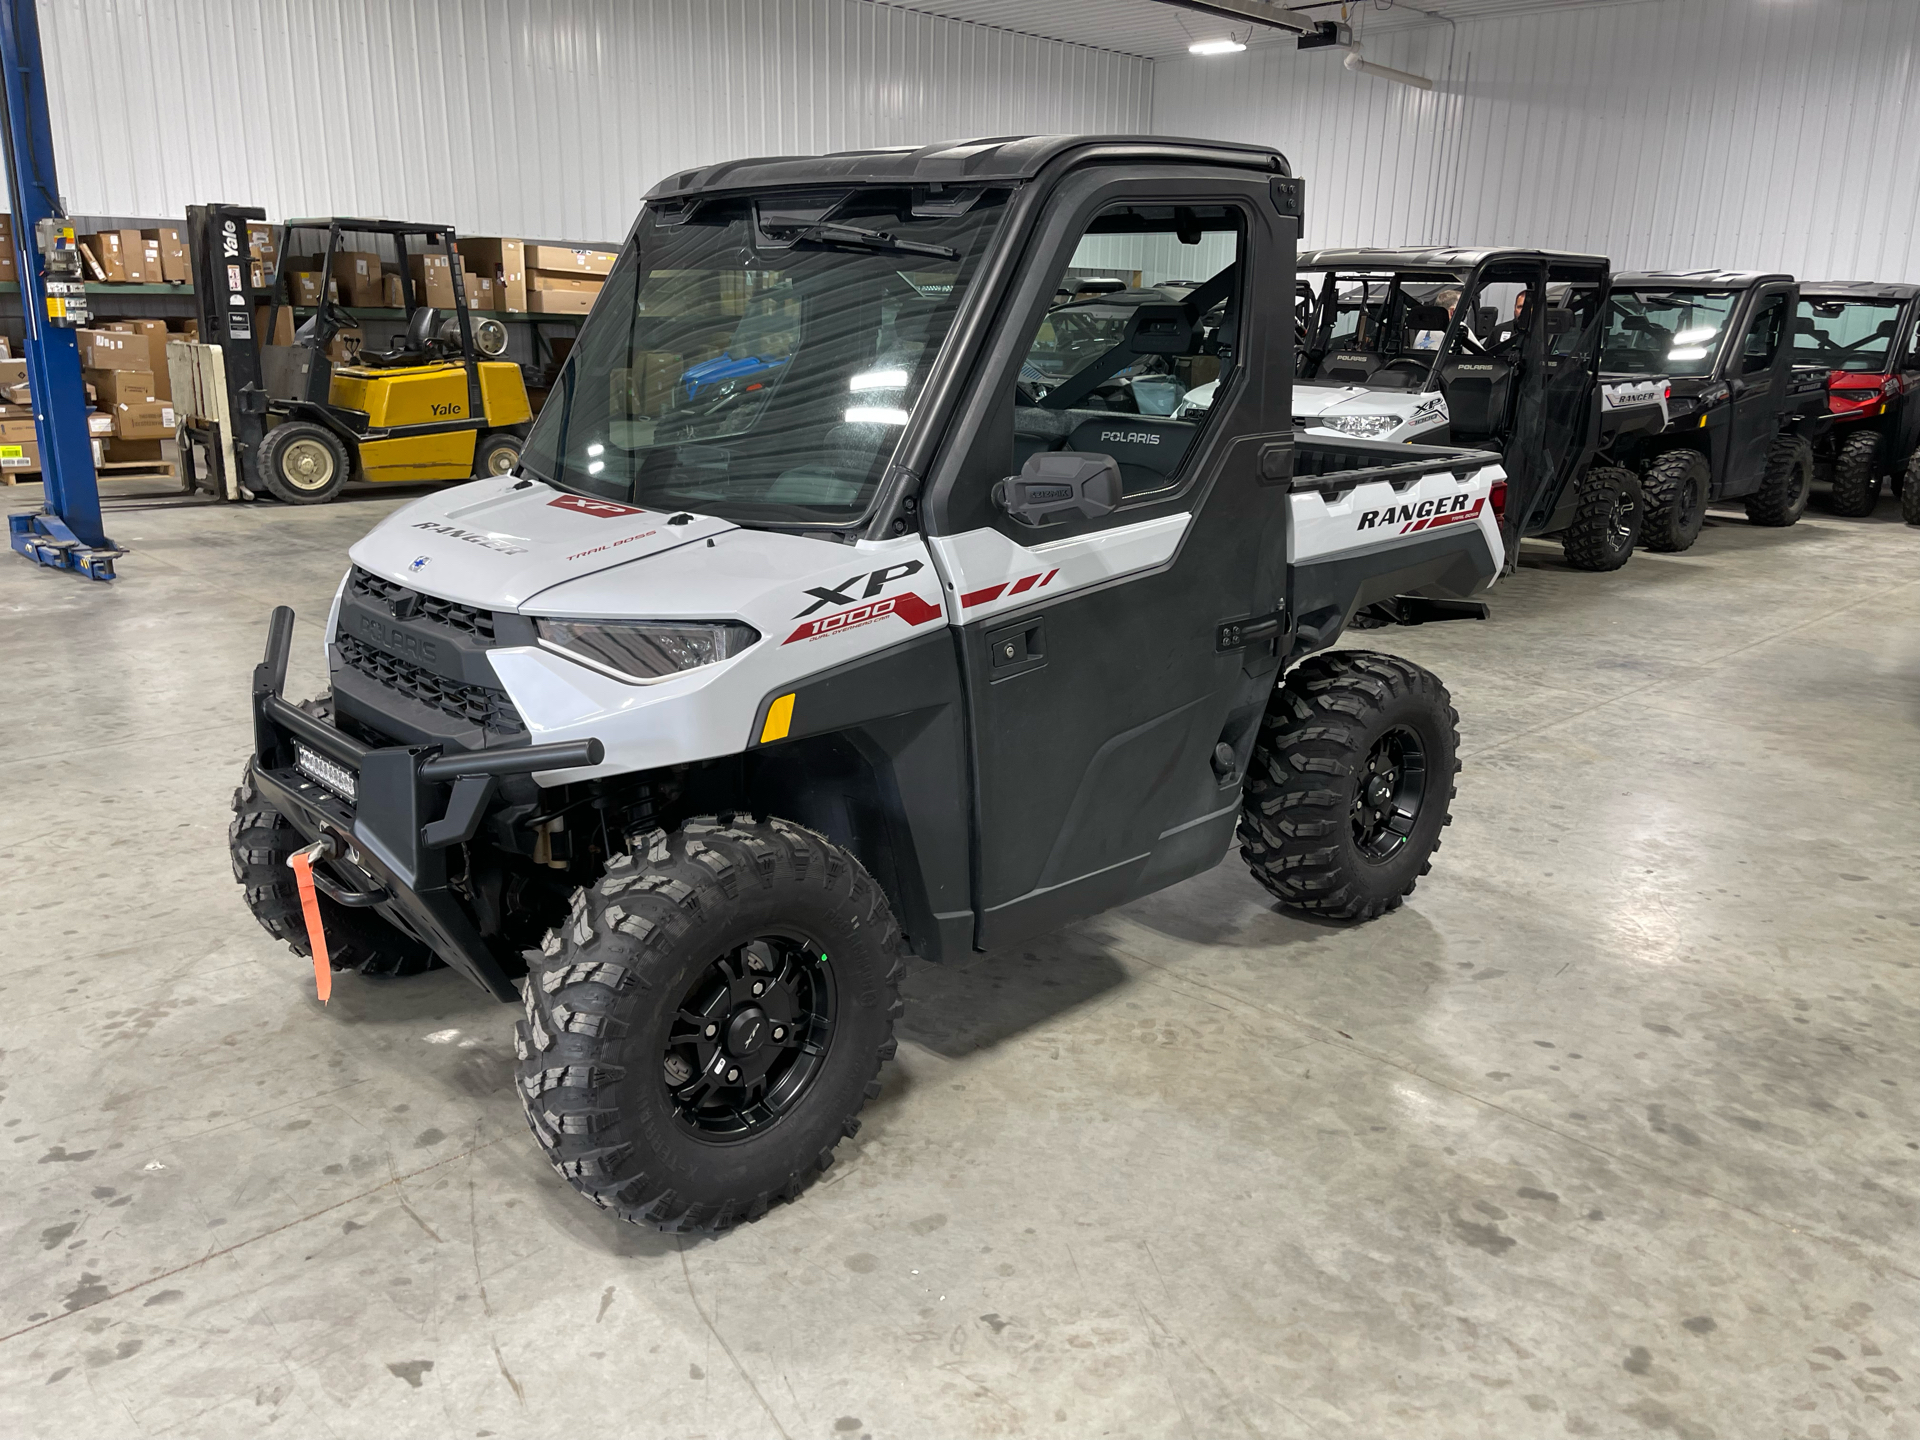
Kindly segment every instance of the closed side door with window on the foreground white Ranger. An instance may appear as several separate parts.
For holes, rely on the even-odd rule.
[[[1275,190],[1192,167],[1062,180],[927,488],[981,948],[1185,879],[1233,839],[1283,649],[1223,636],[1284,601],[1298,221]],[[1071,309],[1112,276],[1127,290]],[[1091,309],[1104,334],[1064,323]],[[993,492],[1035,457],[1110,461],[1117,503],[1021,522]]]

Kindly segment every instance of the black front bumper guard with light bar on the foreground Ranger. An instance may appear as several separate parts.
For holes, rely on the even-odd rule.
[[[330,839],[346,856],[330,876],[317,866],[315,887],[349,910],[378,910],[493,996],[520,998],[507,977],[513,956],[474,927],[449,885],[447,851],[478,833],[501,776],[593,766],[605,747],[597,739],[453,755],[434,745],[367,747],[286,703],[292,645],[294,612],[280,605],[253,668],[253,783],[303,839]],[[300,770],[296,745],[349,768],[353,801]]]

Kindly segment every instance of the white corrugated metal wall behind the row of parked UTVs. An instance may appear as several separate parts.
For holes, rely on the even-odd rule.
[[[1356,8],[1365,17],[1365,12]],[[1154,129],[1279,146],[1321,244],[1920,280],[1920,2],[1645,0],[1160,61]]]

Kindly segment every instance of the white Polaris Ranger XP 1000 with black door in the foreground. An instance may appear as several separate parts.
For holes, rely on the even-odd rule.
[[[440,960],[522,1002],[555,1167],[722,1231],[854,1133],[904,954],[1018,943],[1235,835],[1288,906],[1394,908],[1455,714],[1329,645],[1359,611],[1473,609],[1503,472],[1296,442],[1298,232],[1279,154],[1202,140],[659,184],[520,468],[353,547],[328,697],[280,697],[275,612],[232,824],[253,914],[340,970]],[[1190,288],[1037,396],[1062,276],[1100,267]],[[684,380],[747,330],[753,376]],[[1217,372],[1208,413],[1079,403],[1146,357]]]

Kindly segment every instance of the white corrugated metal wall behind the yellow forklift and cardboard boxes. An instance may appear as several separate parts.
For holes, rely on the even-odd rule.
[[[1148,129],[1152,65],[864,0],[40,0],[75,215],[616,240],[689,165]]]

